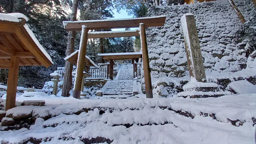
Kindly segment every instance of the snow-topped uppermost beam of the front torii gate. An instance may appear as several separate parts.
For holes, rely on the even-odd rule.
[[[82,30],[82,25],[89,29],[138,28],[140,23],[144,23],[146,27],[161,27],[164,26],[165,19],[166,16],[155,16],[127,19],[63,21],[63,25],[68,31]]]

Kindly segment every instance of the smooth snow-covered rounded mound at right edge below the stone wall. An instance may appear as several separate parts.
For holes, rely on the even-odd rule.
[[[247,80],[234,81],[228,84],[228,88],[232,89],[236,93],[256,93],[256,86]]]

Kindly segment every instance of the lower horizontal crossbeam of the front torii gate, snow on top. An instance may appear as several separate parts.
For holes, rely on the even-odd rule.
[[[88,32],[88,38],[132,37],[140,36],[139,32],[139,30]]]

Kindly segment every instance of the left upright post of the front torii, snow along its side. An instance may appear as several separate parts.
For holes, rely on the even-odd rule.
[[[73,97],[76,99],[80,98],[81,94],[81,85],[82,85],[82,78],[83,78],[83,72],[84,72],[84,60],[86,55],[86,47],[87,47],[87,34],[88,34],[88,28],[85,26],[82,26],[82,35],[81,40],[82,43],[80,43],[80,48],[78,52],[78,60],[76,65],[76,77],[75,77],[75,84],[74,84],[74,93]]]

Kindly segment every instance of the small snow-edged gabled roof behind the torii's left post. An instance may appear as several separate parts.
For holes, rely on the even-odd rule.
[[[76,66],[78,59],[78,50],[75,52],[71,53],[69,56],[67,56],[64,60],[68,60],[70,63]],[[86,55],[85,56],[85,61],[84,61],[88,66],[92,67],[97,67],[97,65]]]

